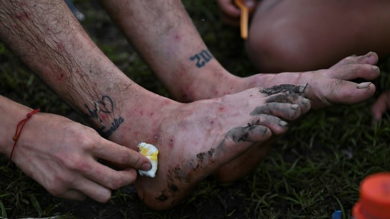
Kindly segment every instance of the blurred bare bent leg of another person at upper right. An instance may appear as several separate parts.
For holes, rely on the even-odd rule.
[[[262,72],[328,68],[343,57],[390,54],[390,3],[375,1],[280,1],[259,4],[247,51]]]

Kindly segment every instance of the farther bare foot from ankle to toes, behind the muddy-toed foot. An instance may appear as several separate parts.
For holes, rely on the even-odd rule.
[[[349,56],[329,69],[307,72],[284,72],[279,74],[257,74],[247,78],[226,76],[228,72],[210,75],[204,87],[193,83],[196,88],[186,87],[185,96],[189,100],[199,100],[237,93],[253,87],[271,87],[279,84],[310,84],[314,96],[311,99],[312,109],[321,109],[333,104],[356,104],[370,98],[375,93],[375,86],[366,82],[357,84],[355,79],[374,80],[379,76],[375,66],[378,56],[370,52],[364,56]],[[218,77],[222,77],[221,80]],[[216,76],[216,78],[213,76]],[[191,86],[191,85],[189,85]],[[187,99],[188,100],[188,99]]]

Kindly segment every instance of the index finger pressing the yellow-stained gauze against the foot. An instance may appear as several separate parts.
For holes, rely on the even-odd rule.
[[[151,168],[149,159],[142,154],[104,138],[102,138],[100,147],[96,147],[92,153],[98,158],[118,164],[121,167],[133,167],[146,171]]]

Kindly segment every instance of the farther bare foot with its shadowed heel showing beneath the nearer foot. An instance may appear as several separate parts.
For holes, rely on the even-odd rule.
[[[259,74],[242,80],[245,81],[245,87],[267,87],[287,82],[291,84],[309,83],[313,86],[314,92],[311,108],[321,109],[336,103],[353,104],[370,98],[375,93],[375,86],[372,83],[356,84],[348,80],[377,78],[379,69],[374,66],[377,61],[376,53],[370,52],[364,56],[346,57],[330,69],[299,73]],[[240,86],[234,88],[237,87]],[[225,164],[213,173],[214,178],[219,181],[234,181],[246,176],[264,158],[268,151],[268,144],[273,139],[275,138],[270,139],[268,143],[262,143],[257,148],[252,147],[245,154]]]

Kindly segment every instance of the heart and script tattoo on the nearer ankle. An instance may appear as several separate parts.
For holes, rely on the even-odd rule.
[[[93,102],[94,105],[90,108],[87,104],[84,104],[89,113],[88,117],[91,119],[96,119],[101,124],[101,127],[98,128],[98,131],[103,134],[104,137],[109,137],[114,131],[116,131],[120,124],[124,122],[123,117],[113,118],[111,126],[107,128],[103,120],[107,118],[108,114],[112,114],[114,111],[114,101],[108,95],[103,95],[102,99],[96,100]],[[101,114],[105,115],[102,119]],[[107,128],[107,129],[106,129]]]

